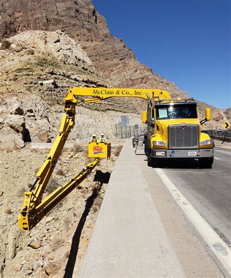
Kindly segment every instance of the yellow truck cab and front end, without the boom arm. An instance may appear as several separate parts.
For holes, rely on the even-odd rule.
[[[213,140],[201,132],[201,125],[211,119],[206,108],[205,119],[199,121],[196,102],[190,99],[171,99],[170,96],[154,99],[148,97],[147,111],[142,122],[147,124],[144,134],[148,166],[158,167],[164,158],[198,159],[200,168],[211,168]]]

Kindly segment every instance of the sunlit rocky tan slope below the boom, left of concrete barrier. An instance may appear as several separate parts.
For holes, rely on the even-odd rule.
[[[27,148],[0,150],[0,278],[60,278],[72,272],[77,277],[81,267],[116,156],[112,154],[111,160],[101,160],[81,187],[39,225],[29,233],[21,232],[18,216],[23,195],[32,186],[47,154],[46,150]],[[87,163],[87,151],[66,150],[45,196],[71,180]]]

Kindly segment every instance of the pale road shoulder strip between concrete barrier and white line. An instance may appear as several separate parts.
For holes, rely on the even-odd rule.
[[[136,157],[186,277],[223,277],[146,156]]]

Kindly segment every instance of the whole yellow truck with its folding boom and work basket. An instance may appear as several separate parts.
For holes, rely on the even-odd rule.
[[[72,88],[65,96],[65,114],[56,140],[37,172],[31,189],[24,193],[19,213],[19,228],[22,231],[29,232],[70,192],[80,187],[100,158],[110,158],[110,144],[89,143],[89,156],[94,157],[95,161],[88,163],[86,169],[42,199],[68,135],[75,126],[76,106],[81,102],[97,102],[110,97],[137,97],[148,101],[142,120],[148,127],[145,152],[149,166],[158,165],[158,160],[163,158],[198,158],[201,167],[212,166],[212,140],[208,134],[201,132],[201,125],[211,118],[210,109],[206,109],[205,119],[199,121],[193,99],[171,99],[166,90],[159,89]]]

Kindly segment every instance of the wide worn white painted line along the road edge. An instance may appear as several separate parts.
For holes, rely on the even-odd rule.
[[[189,223],[196,230],[199,237],[209,248],[217,265],[225,277],[231,277],[231,250],[217,235],[204,218],[194,209],[188,199],[174,186],[167,175],[159,168],[154,169],[172,194],[176,204],[180,207]]]

